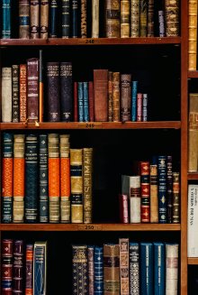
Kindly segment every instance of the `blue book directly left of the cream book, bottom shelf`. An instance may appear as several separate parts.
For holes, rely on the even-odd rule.
[[[166,255],[164,243],[153,243],[154,246],[154,294],[165,295],[166,290]]]

